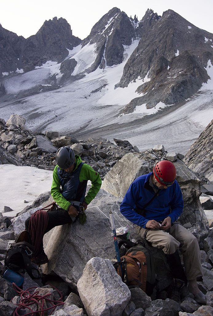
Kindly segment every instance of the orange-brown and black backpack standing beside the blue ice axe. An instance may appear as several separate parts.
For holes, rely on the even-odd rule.
[[[152,253],[139,240],[133,243],[130,240],[119,242],[122,262],[122,281],[130,288],[139,287],[151,295],[156,284],[155,264]],[[121,246],[124,246],[121,248]],[[114,264],[118,271],[118,263]]]

